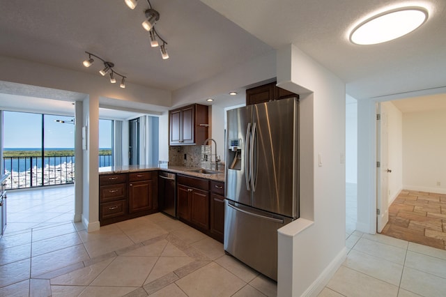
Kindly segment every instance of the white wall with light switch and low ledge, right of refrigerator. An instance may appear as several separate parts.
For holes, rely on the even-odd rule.
[[[300,95],[300,218],[279,229],[277,295],[316,296],[346,257],[345,84],[294,45],[277,82]]]

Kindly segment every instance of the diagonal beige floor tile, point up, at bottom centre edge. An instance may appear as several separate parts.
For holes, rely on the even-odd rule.
[[[231,296],[245,282],[212,262],[176,281],[187,296]]]

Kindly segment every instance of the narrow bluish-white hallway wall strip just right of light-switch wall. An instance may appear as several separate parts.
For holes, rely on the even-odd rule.
[[[346,95],[346,183],[357,183],[357,101]]]

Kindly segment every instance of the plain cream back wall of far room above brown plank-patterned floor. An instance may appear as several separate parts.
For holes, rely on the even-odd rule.
[[[403,114],[404,189],[446,194],[445,151],[446,109]]]

